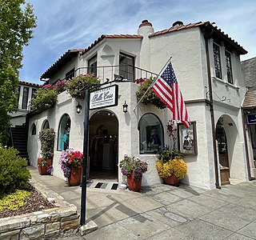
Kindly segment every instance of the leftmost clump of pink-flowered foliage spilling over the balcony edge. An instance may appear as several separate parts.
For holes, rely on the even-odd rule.
[[[53,89],[40,88],[35,94],[35,98],[31,100],[31,107],[38,114],[42,111],[50,109],[57,102],[58,94]]]

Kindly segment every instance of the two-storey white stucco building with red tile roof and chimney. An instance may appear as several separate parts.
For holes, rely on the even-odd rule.
[[[188,174],[182,182],[204,188],[219,187],[229,178],[248,180],[253,165],[246,156],[242,122],[242,101],[246,86],[240,55],[246,50],[210,22],[183,25],[174,22],[170,29],[154,31],[143,21],[134,35],[102,35],[82,50],[68,50],[44,74],[42,80],[53,84],[78,74],[95,73],[102,82],[118,79],[118,105],[90,110],[90,172],[106,171],[118,182],[117,170],[124,154],[138,156],[149,162],[142,185],[161,182],[155,169],[157,149],[170,145],[166,125],[172,119],[170,110],[139,103],[137,78],[156,76],[171,57],[178,86],[186,102],[193,129],[178,133],[191,134],[193,149],[186,149],[181,138],[179,148],[185,155]],[[110,86],[110,85],[106,85]],[[104,86],[104,87],[106,87]],[[122,110],[126,102],[128,111]],[[80,102],[82,110],[84,102]],[[56,131],[54,144],[54,175],[63,178],[58,166],[65,130],[69,130],[69,147],[82,150],[83,111],[76,113],[76,102],[66,91],[58,95],[54,108],[41,114],[30,114],[28,152],[30,163],[37,166],[40,157],[38,134],[50,126]],[[150,131],[158,133],[160,142],[149,145]]]

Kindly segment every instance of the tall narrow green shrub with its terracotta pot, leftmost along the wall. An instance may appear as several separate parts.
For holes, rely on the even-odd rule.
[[[53,128],[47,128],[39,132],[42,154],[42,158],[38,158],[39,174],[51,174],[52,172],[52,160],[54,157],[54,138],[55,131]]]

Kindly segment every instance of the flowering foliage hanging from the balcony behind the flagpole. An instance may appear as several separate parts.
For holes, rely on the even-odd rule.
[[[145,94],[146,90],[150,87],[151,83],[154,81],[155,78],[149,78],[149,79],[142,79],[142,81],[139,81],[139,87],[136,92],[136,96],[138,99],[141,99],[143,94]],[[140,79],[141,80],[141,79]],[[166,108],[166,105],[161,101],[160,98],[158,98],[157,94],[154,93],[154,90],[150,89],[147,91],[146,95],[142,98],[142,103],[146,106],[156,106],[159,109]]]

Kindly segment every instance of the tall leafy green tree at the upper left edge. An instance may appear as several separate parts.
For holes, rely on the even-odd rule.
[[[8,112],[17,110],[18,70],[22,67],[22,50],[33,38],[36,17],[25,0],[0,0],[0,143],[9,136]],[[7,135],[6,135],[7,134]]]

